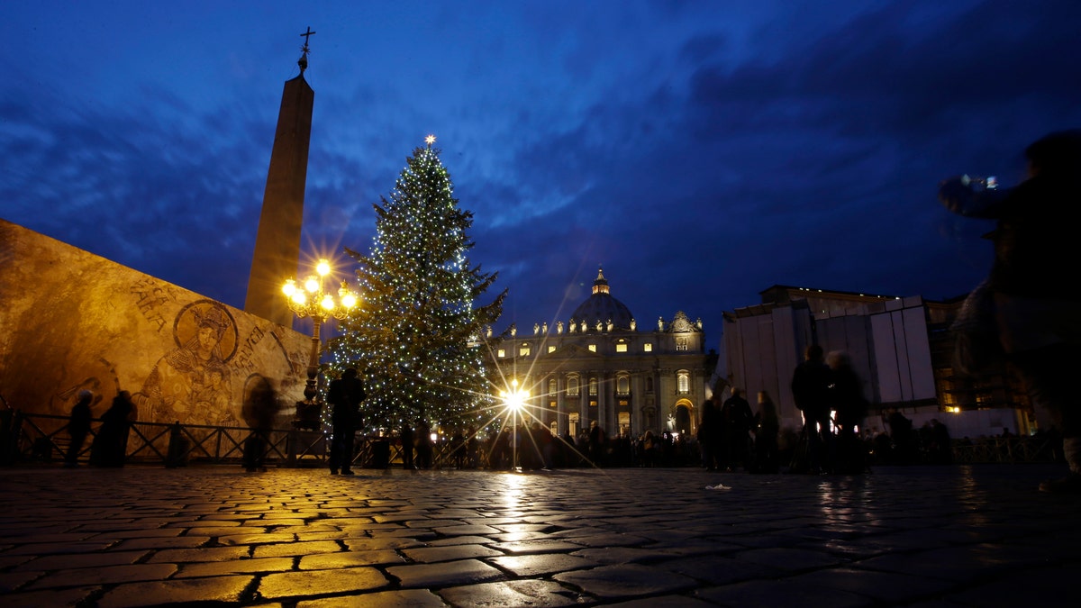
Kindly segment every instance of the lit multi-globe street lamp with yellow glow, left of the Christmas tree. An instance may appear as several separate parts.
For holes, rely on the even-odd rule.
[[[308,382],[304,387],[304,406],[310,412],[316,413],[318,420],[319,401],[316,395],[319,389],[316,387],[316,375],[319,372],[319,328],[330,317],[344,319],[349,310],[357,305],[357,295],[349,290],[348,283],[342,281],[342,287],[337,290],[337,299],[323,290],[323,281],[331,274],[331,263],[325,259],[320,259],[316,264],[316,274],[309,275],[302,285],[296,285],[294,279],[289,279],[282,286],[281,291],[285,294],[289,309],[298,318],[311,317],[311,355],[308,358]],[[299,404],[297,405],[299,407]],[[315,407],[313,407],[315,406]],[[297,412],[298,414],[301,412]],[[307,422],[307,417],[298,417]]]

